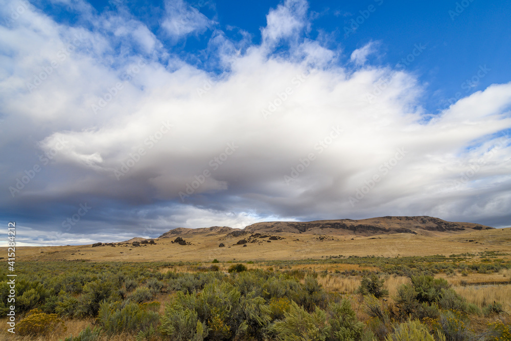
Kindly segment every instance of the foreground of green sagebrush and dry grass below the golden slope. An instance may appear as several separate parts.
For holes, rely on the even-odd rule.
[[[511,340],[509,256],[17,262],[0,339]]]

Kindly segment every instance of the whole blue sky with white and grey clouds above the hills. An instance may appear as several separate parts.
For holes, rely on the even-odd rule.
[[[18,245],[511,225],[511,1],[0,0],[0,18]]]

